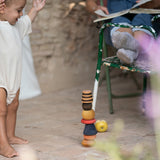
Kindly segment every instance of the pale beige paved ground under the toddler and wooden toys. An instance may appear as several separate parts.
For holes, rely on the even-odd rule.
[[[130,77],[113,75],[112,86],[118,93],[135,90]],[[81,145],[84,129],[84,124],[81,123],[81,94],[83,90],[92,88],[93,83],[84,83],[20,102],[16,134],[29,140],[29,146],[35,150],[39,160],[87,160],[90,157],[97,160],[109,159],[93,147],[85,148]],[[113,102],[115,113],[111,115],[108,112],[107,92],[103,82],[98,92],[96,119],[106,120],[108,131],[98,133],[96,140],[107,140],[114,121],[122,119],[125,129],[119,137],[120,146],[128,151],[141,143],[150,147],[155,156],[155,134],[151,122],[141,113],[141,97],[114,99]],[[24,146],[14,147],[19,150]],[[7,158],[0,156],[0,160]]]

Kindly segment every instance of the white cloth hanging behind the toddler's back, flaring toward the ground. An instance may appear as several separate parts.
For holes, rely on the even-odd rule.
[[[41,94],[41,89],[34,70],[32,50],[29,36],[25,36],[22,43],[22,79],[19,99],[29,99]]]

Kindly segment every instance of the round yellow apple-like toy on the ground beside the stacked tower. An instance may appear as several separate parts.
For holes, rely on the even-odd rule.
[[[95,127],[98,132],[105,132],[108,129],[108,124],[105,120],[97,120]]]

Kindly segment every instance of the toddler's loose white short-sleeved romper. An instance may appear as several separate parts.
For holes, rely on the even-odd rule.
[[[7,92],[7,104],[16,96],[22,75],[22,39],[31,33],[28,15],[21,17],[16,25],[0,21],[0,87]]]

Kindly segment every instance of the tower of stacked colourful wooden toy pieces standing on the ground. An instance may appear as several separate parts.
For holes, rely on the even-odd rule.
[[[85,147],[91,147],[94,144],[94,140],[96,138],[97,130],[95,128],[94,123],[95,120],[95,112],[92,109],[92,92],[90,90],[84,90],[82,92],[82,120],[81,123],[85,124],[85,128],[83,131],[84,139],[82,141],[82,145]]]

